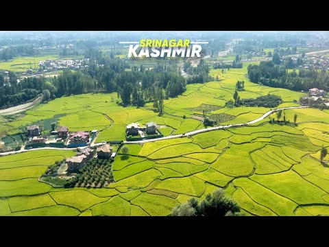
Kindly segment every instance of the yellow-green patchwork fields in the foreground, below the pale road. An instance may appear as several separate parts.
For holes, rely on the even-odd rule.
[[[321,145],[329,147],[329,117],[324,120],[131,144],[127,156],[119,152],[114,161],[116,183],[103,189],[38,182],[47,165],[73,151],[0,157],[0,215],[169,215],[217,187],[246,215],[328,215],[329,169],[319,162]]]

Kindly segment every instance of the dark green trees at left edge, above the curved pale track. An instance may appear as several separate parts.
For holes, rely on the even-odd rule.
[[[45,78],[25,78],[20,82],[17,81],[15,73],[8,73],[9,80],[5,80],[0,75],[0,107],[10,107],[34,99],[42,91],[49,92],[48,99],[55,98],[56,87],[47,84]]]

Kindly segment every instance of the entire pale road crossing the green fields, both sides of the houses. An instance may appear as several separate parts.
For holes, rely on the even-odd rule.
[[[249,122],[244,123],[244,124],[229,124],[229,125],[226,125],[226,126],[215,126],[215,127],[211,127],[211,128],[204,128],[204,129],[201,129],[201,130],[194,130],[194,131],[191,131],[191,132],[186,132],[185,134],[175,134],[175,135],[169,136],[169,137],[161,137],[161,138],[157,138],[157,139],[149,139],[149,140],[144,140],[144,141],[123,141],[123,143],[125,143],[125,144],[149,143],[149,142],[153,142],[153,141],[162,141],[162,140],[167,140],[167,139],[175,139],[175,138],[180,138],[180,137],[192,136],[194,134],[199,134],[199,133],[208,132],[208,131],[212,131],[212,130],[221,130],[221,129],[224,129],[224,128],[248,126],[249,124],[254,124],[254,123],[257,123],[258,121],[261,121],[261,120],[265,119],[265,117],[271,115],[272,113],[275,113],[277,110],[288,110],[288,109],[307,108],[307,107],[308,106],[291,106],[291,107],[278,108],[278,109],[275,109],[275,110],[269,110],[262,117],[258,117],[258,119],[249,121]],[[101,145],[101,143],[97,143],[97,144],[94,144],[92,146],[97,146],[97,145]],[[80,147],[80,148],[84,148],[84,147]],[[22,153],[22,152],[28,152],[28,151],[34,151],[34,150],[76,150],[76,149],[77,148],[51,148],[51,147],[33,148],[33,149],[30,149],[30,150],[19,150],[19,151],[12,151],[12,152],[3,152],[3,153],[0,153],[0,156],[5,156],[5,155],[9,155],[9,154],[19,154],[19,153]]]

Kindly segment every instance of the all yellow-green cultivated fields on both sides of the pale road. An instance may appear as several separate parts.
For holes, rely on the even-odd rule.
[[[3,124],[1,131],[55,119],[73,131],[103,129],[97,143],[123,140],[125,125],[132,122],[155,121],[165,128],[164,135],[204,128],[190,118],[202,114],[202,107],[208,108],[209,117],[222,119],[221,125],[252,121],[270,110],[223,107],[237,80],[245,81],[241,98],[273,93],[284,101],[278,108],[297,106],[293,100],[302,93],[249,82],[246,65],[223,74],[212,69],[212,76],[221,81],[188,85],[183,95],[164,100],[163,117],[146,108],[118,106],[116,93],[86,94],[40,104]],[[113,164],[116,183],[103,189],[54,189],[38,182],[47,165],[73,151],[0,157],[0,215],[169,215],[175,205],[193,196],[204,198],[217,187],[225,189],[246,215],[328,215],[329,169],[319,162],[319,150],[329,146],[329,111],[300,108],[285,113],[290,121],[296,113],[298,125],[269,124],[265,118],[252,126],[189,138],[126,144],[127,156],[119,152]]]

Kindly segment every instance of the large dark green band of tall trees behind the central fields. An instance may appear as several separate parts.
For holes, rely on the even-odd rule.
[[[143,66],[132,67],[131,71],[125,68],[119,59],[113,59],[103,66],[90,62],[87,68],[74,73],[66,70],[53,79],[56,96],[117,91],[124,105],[143,106],[150,101],[160,105],[163,97],[175,97],[186,90],[182,75],[167,65],[158,65],[153,70],[145,70]]]

